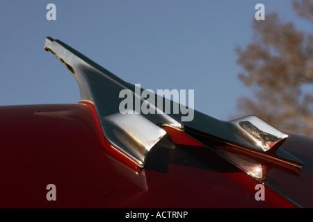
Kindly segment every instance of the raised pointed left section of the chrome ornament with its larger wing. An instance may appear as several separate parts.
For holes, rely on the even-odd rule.
[[[146,102],[138,98],[134,85],[126,83],[59,40],[47,37],[44,49],[53,53],[74,75],[79,84],[81,100],[94,103],[104,137],[139,167],[145,164],[152,146],[166,134],[159,126],[184,130],[180,121],[164,112],[120,114],[122,99],[119,94],[122,89],[131,90],[133,101],[140,99],[141,104]],[[150,105],[157,110],[152,103]]]

